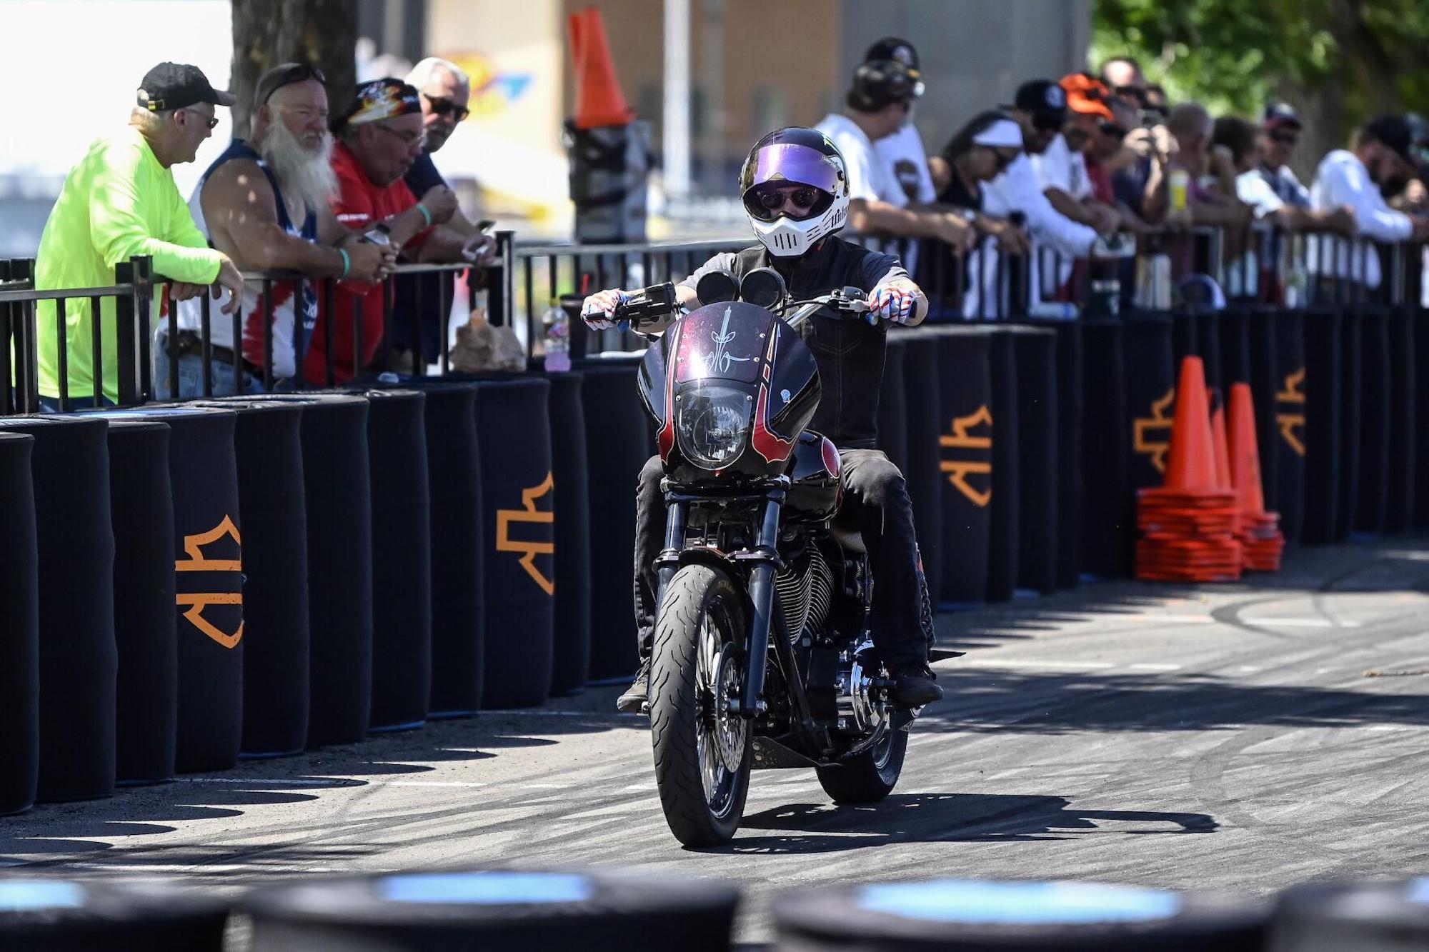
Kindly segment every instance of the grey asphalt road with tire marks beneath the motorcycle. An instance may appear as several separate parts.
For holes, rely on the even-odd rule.
[[[181,876],[622,865],[720,876],[739,938],[782,888],[1062,876],[1270,893],[1429,872],[1429,540],[1309,549],[1243,585],[1087,585],[943,615],[965,658],[899,789],[835,808],[755,775],[743,829],[682,851],[617,689],[0,819],[0,863]]]

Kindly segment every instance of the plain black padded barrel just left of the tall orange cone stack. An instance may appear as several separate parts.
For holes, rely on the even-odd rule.
[[[1130,570],[1135,523],[1127,520],[1130,440],[1122,323],[1082,322],[1082,572],[1120,577]]]

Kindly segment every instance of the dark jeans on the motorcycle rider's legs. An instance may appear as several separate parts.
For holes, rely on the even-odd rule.
[[[843,513],[859,527],[873,567],[873,640],[890,668],[927,660],[933,640],[927,610],[913,509],[903,473],[879,450],[846,449],[843,463]],[[634,618],[640,658],[650,656],[654,639],[654,559],[664,547],[664,497],[660,457],[640,470],[634,516]]]

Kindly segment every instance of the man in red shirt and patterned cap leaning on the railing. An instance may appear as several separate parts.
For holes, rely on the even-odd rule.
[[[422,154],[422,101],[417,90],[399,79],[357,87],[357,97],[337,116],[333,133],[333,172],[337,220],[366,240],[390,243],[407,262],[462,262],[466,239],[446,222],[456,212],[456,194],[444,184],[419,202],[402,180]],[[304,360],[312,383],[327,380],[327,327],[333,322],[334,382],[360,373],[382,343],[386,286],[339,282],[333,313],[322,313]],[[357,350],[360,302],[362,347]],[[356,356],[356,362],[354,362]]]

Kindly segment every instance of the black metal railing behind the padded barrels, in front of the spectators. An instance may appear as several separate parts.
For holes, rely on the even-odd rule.
[[[876,239],[875,239],[876,240]],[[887,239],[889,250],[906,253],[915,240]],[[1172,249],[1172,243],[1182,243]],[[303,279],[294,273],[246,273],[257,287],[262,320],[262,347],[244,342],[249,327],[240,313],[224,316],[214,312],[214,302],[203,296],[186,306],[187,316],[167,293],[171,282],[156,276],[147,257],[136,257],[116,269],[116,283],[107,287],[79,287],[34,290],[34,262],[29,259],[0,262],[0,415],[30,413],[46,406],[67,410],[87,406],[94,395],[104,395],[107,386],[120,406],[154,400],[160,395],[156,376],[169,383],[163,389],[167,399],[201,399],[219,390],[216,367],[231,370],[243,392],[299,389],[304,386],[336,386],[349,379],[349,367],[339,360],[334,346],[337,336],[350,336],[350,376],[384,370],[407,376],[424,376],[430,369],[446,375],[450,363],[450,313],[456,293],[454,277],[467,272],[470,309],[477,306],[477,284],[484,287],[486,312],[493,324],[509,326],[526,347],[527,356],[542,352],[542,316],[547,302],[559,302],[570,317],[572,356],[610,350],[637,350],[646,340],[620,330],[587,332],[579,320],[579,304],[584,294],[604,287],[642,287],[664,280],[680,280],[710,256],[737,252],[753,243],[750,237],[729,237],[707,242],[669,242],[650,244],[517,244],[510,232],[497,234],[497,257],[492,266],[474,269],[470,264],[403,264],[382,284],[379,320],[380,340],[369,339],[364,309],[366,296],[337,279]],[[1240,234],[1222,229],[1198,227],[1166,233],[1153,240],[1136,243],[1135,254],[1123,259],[1072,259],[1049,247],[1035,249],[1033,257],[1003,253],[990,239],[975,253],[955,254],[942,242],[916,239],[917,273],[915,279],[932,303],[932,320],[1017,320],[1029,316],[1053,314],[1072,317],[1115,316],[1120,310],[1149,307],[1165,310],[1169,297],[1165,289],[1150,287],[1165,283],[1167,274],[1153,267],[1157,256],[1179,257],[1172,272],[1203,273],[1216,280],[1225,297],[1235,302],[1256,302],[1283,306],[1358,306],[1382,302],[1400,304],[1419,300],[1422,290],[1423,244],[1383,244],[1366,239],[1343,239],[1330,234],[1308,236],[1286,233],[1272,227],[1253,226]],[[1235,260],[1228,262],[1228,249]],[[1373,260],[1373,267],[1370,262]],[[976,269],[976,270],[973,270]],[[969,272],[973,272],[972,276]],[[1163,266],[1162,272],[1167,267]],[[1375,280],[1378,270],[1378,280]],[[480,282],[476,276],[480,276]],[[277,373],[274,360],[274,296],[287,283],[306,280],[316,289],[322,324],[322,365],[309,360],[309,346],[314,327],[292,304],[292,366],[290,375]],[[1153,293],[1155,292],[1155,293]],[[339,307],[339,294],[344,306]],[[114,329],[101,320],[101,300],[114,300]],[[91,393],[71,395],[70,340],[67,334],[66,303],[87,300],[94,387]],[[153,320],[154,302],[166,303],[157,322]],[[57,399],[41,405],[39,385],[40,302],[56,302],[56,353],[51,370],[57,373]],[[1149,304],[1147,302],[1156,302]],[[434,324],[434,326],[433,326]],[[214,333],[221,329],[221,333]],[[154,332],[159,333],[154,333]],[[406,353],[394,344],[394,336],[406,332]],[[113,333],[117,379],[106,380],[103,360],[106,334]],[[194,356],[201,372],[197,387],[181,392],[180,362],[184,350],[176,342],[196,342]],[[429,346],[436,343],[433,352]],[[157,357],[156,357],[157,352]],[[343,354],[346,357],[346,354]],[[97,359],[96,359],[97,357]],[[257,357],[257,359],[254,359]],[[286,360],[284,360],[286,366]],[[107,399],[104,400],[109,402]]]

